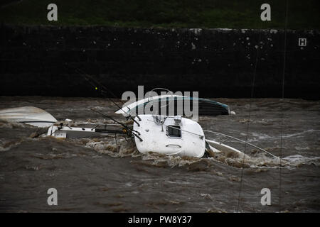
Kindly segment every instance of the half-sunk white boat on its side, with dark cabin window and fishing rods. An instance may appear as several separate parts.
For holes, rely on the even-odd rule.
[[[122,134],[134,139],[140,153],[154,152],[189,157],[207,157],[211,153],[235,153],[239,157],[244,155],[229,145],[206,139],[203,128],[188,118],[144,114],[136,116],[134,120],[133,125],[128,126],[119,123],[60,121],[50,126],[46,135],[55,138],[83,138]]]

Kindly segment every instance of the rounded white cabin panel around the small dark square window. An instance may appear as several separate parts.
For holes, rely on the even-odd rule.
[[[203,157],[206,149],[206,140],[201,126],[196,121],[181,118],[181,123],[176,123],[174,117],[168,117],[164,124],[154,122],[154,116],[146,114],[139,115],[134,123],[134,131],[139,132],[139,138],[135,137],[137,150],[140,153],[161,153],[164,155],[180,155],[190,157]],[[164,118],[164,116],[161,116]],[[168,135],[168,127],[179,126],[181,137]],[[134,132],[135,133],[135,132]],[[199,136],[201,135],[201,136]]]

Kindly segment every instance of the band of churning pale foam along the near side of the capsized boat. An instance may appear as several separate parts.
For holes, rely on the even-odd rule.
[[[191,165],[196,162],[206,160],[207,164],[210,162],[220,162],[225,165],[233,167],[245,168],[278,168],[280,165],[279,157],[269,157],[263,153],[255,154],[255,156],[242,157],[228,154],[218,154],[215,157],[196,158],[196,157],[181,157],[178,155],[163,155],[160,153],[139,153],[134,143],[131,140],[124,140],[118,138],[117,144],[114,138],[94,138],[94,139],[80,139],[81,143],[87,148],[93,148],[100,154],[110,155],[112,157],[137,157],[140,161],[146,161],[150,165],[169,167],[181,167],[184,165]],[[138,161],[139,161],[138,160]],[[211,163],[212,164],[212,163]],[[242,165],[243,164],[243,165]],[[282,167],[292,168],[300,167],[301,165],[320,165],[320,157],[304,157],[302,155],[290,155],[282,158]]]

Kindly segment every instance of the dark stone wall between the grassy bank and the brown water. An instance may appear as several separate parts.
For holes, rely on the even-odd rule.
[[[281,97],[284,31],[0,27],[0,95],[97,96],[165,87],[201,97]],[[298,45],[306,38],[306,47]],[[319,99],[319,31],[287,31],[284,96]]]

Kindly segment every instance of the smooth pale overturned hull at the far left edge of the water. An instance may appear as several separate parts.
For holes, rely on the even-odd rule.
[[[27,123],[43,128],[57,122],[51,114],[34,106],[0,109],[0,120]]]

